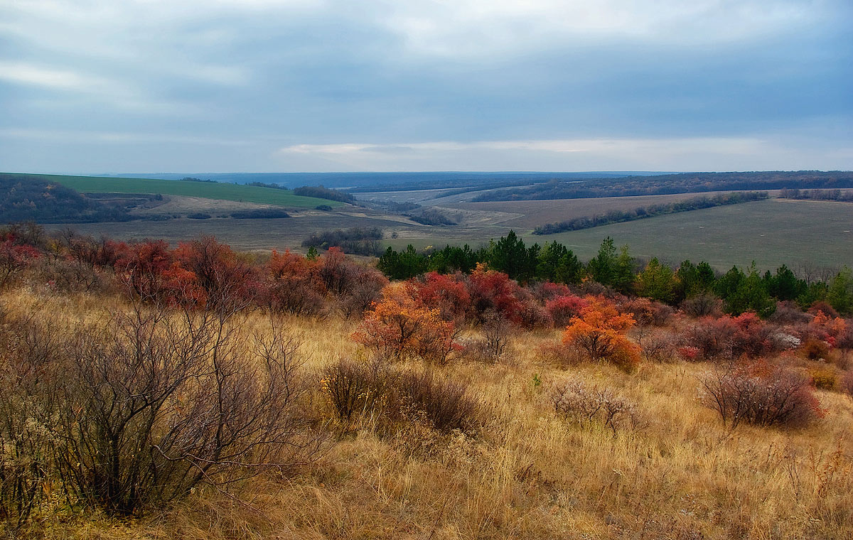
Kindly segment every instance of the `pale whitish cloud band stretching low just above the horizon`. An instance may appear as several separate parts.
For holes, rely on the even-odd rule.
[[[324,164],[328,171],[751,171],[849,166],[845,152],[815,155],[792,141],[759,137],[686,137],[299,144],[276,156],[282,165]]]

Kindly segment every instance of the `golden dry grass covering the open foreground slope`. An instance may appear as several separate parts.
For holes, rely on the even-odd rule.
[[[14,313],[107,316],[118,300],[2,297]],[[306,367],[357,356],[353,322],[288,319],[305,339]],[[265,324],[252,315],[247,324]],[[450,363],[485,403],[474,437],[412,423],[380,437],[336,432],[320,462],[290,478],[254,479],[237,502],[201,490],[143,520],[44,517],[51,538],[843,538],[853,536],[853,400],[818,392],[827,416],[813,427],[725,430],[699,404],[703,364],[606,365],[571,372],[537,357],[559,333],[523,334],[496,364]],[[414,364],[413,364],[414,365]],[[535,376],[536,375],[536,376]],[[647,425],[614,435],[556,415],[548,386],[568,377],[612,387]],[[541,383],[537,383],[541,381]],[[318,401],[318,407],[323,404]]]

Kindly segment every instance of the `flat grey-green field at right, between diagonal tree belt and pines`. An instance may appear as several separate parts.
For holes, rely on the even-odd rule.
[[[719,269],[755,261],[761,269],[780,264],[853,266],[853,204],[770,199],[718,206],[612,224],[557,235],[528,235],[525,241],[560,241],[587,259],[612,236],[638,257],[670,263],[705,260]]]

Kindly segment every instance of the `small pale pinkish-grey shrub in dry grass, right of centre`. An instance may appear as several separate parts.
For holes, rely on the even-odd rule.
[[[558,413],[579,423],[601,422],[614,436],[619,429],[644,425],[635,404],[618,396],[611,388],[567,380],[554,385],[549,397]]]

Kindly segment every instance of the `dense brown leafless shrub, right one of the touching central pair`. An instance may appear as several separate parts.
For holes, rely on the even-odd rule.
[[[475,433],[479,427],[479,401],[467,386],[433,375],[431,370],[408,372],[397,381],[403,415],[422,419],[440,432],[458,429]]]

